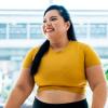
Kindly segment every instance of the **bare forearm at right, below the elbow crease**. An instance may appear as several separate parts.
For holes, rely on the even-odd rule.
[[[107,85],[98,84],[93,91],[92,108],[104,108],[107,98]]]

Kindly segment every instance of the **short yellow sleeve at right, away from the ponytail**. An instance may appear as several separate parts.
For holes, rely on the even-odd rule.
[[[84,63],[85,67],[100,65],[100,58],[98,54],[90,45],[85,45],[84,48]]]

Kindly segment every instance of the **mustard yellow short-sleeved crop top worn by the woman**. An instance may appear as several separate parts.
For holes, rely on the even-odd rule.
[[[29,68],[39,48],[31,49],[23,62],[23,68]],[[42,57],[35,82],[39,91],[66,90],[76,93],[84,93],[86,78],[84,68],[100,64],[94,50],[82,42],[70,41],[59,52],[52,48]]]

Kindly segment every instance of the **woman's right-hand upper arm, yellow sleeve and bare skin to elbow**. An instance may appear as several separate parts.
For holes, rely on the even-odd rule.
[[[93,48],[85,45],[84,49],[85,75],[91,89],[97,84],[105,83],[100,58]]]

